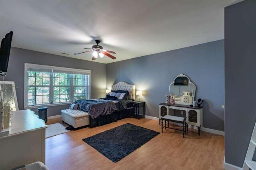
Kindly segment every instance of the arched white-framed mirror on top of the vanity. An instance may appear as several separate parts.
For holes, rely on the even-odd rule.
[[[190,81],[188,76],[180,74],[170,84],[169,92],[175,103],[191,105],[196,95],[196,85]]]

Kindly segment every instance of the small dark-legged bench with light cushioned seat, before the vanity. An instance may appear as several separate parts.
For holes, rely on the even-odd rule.
[[[187,125],[187,117],[177,117],[177,116],[170,116],[170,115],[162,115],[162,132],[163,132],[163,128],[170,128],[169,127],[169,122],[174,122],[174,123],[181,123],[183,125],[183,129],[181,131],[183,131],[183,137],[184,134],[188,132],[188,125]],[[164,121],[164,123],[163,123]],[[166,127],[166,121],[168,122],[168,127]],[[163,126],[164,124],[164,126]],[[175,130],[180,130],[177,128],[171,128],[171,129],[175,129]]]

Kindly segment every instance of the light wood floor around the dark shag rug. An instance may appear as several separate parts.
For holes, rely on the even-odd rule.
[[[52,119],[48,124],[62,123]],[[46,165],[50,170],[219,170],[224,159],[224,136],[189,128],[182,138],[179,130],[164,130],[117,163],[82,141],[83,138],[132,123],[161,132],[158,121],[127,118],[102,127],[82,128],[46,139]]]

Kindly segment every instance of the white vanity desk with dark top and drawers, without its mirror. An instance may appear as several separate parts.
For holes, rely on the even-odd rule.
[[[170,113],[170,109],[173,109]],[[189,105],[160,103],[159,104],[159,125],[162,115],[174,116],[174,109],[186,111],[187,124],[196,126],[198,128],[198,135],[200,135],[201,127],[203,126],[203,107],[190,107]]]

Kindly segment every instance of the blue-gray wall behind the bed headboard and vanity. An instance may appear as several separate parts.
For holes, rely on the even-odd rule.
[[[146,115],[158,117],[169,85],[184,73],[204,99],[203,127],[224,131],[224,40],[107,64],[107,88],[126,81],[143,91]]]

